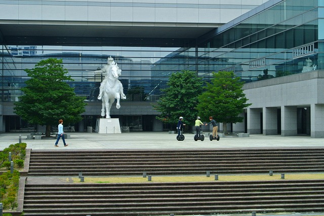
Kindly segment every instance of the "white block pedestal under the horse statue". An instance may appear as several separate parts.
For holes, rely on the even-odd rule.
[[[97,119],[96,132],[99,134],[120,134],[119,119]]]

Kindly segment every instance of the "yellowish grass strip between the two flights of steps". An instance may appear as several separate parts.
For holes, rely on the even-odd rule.
[[[206,176],[152,176],[151,182],[214,182],[215,175]],[[265,175],[218,175],[218,181],[273,181],[273,180],[316,180],[324,179],[324,174],[285,174],[285,179],[281,179],[281,174]],[[74,183],[79,183],[79,178],[72,178]],[[86,183],[143,183],[148,182],[142,176],[123,177],[86,177]]]

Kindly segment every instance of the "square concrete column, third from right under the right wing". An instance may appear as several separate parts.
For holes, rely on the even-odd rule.
[[[263,107],[263,135],[277,135],[277,125],[277,107]]]

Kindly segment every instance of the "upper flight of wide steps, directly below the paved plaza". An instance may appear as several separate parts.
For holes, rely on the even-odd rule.
[[[31,151],[29,176],[323,172],[324,149]]]

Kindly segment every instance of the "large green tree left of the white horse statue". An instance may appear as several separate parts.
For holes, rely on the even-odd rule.
[[[21,88],[23,95],[15,102],[14,112],[30,124],[46,125],[46,136],[50,136],[51,126],[82,120],[80,114],[85,112],[84,97],[78,97],[64,81],[73,81],[66,76],[62,60],[42,60],[31,70],[25,69],[30,77],[26,86]]]

